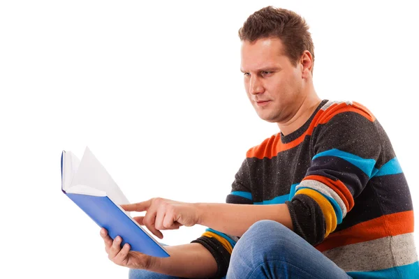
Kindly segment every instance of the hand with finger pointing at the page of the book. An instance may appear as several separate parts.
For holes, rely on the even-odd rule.
[[[163,239],[160,229],[179,229],[182,225],[191,227],[199,220],[195,204],[175,202],[157,197],[137,204],[123,204],[125,211],[147,211],[145,216],[134,217],[140,225],[145,225],[152,234]]]

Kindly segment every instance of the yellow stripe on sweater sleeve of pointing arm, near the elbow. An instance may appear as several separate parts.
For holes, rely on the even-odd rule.
[[[297,193],[295,195],[307,195],[311,197],[311,199],[314,199],[318,206],[320,206],[321,211],[323,211],[323,216],[325,216],[326,221],[326,233],[325,238],[328,237],[328,235],[333,232],[336,229],[337,226],[337,218],[335,209],[333,209],[332,204],[321,195],[321,193],[318,193],[316,190],[311,189],[301,189],[297,190]]]

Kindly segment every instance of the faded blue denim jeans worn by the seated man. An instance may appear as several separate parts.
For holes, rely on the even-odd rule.
[[[142,270],[130,270],[130,279],[177,279]],[[237,241],[226,279],[351,278],[307,241],[280,223],[262,220]]]

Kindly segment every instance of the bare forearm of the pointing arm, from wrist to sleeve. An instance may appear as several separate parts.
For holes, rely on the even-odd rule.
[[[286,204],[209,204],[198,203],[198,223],[225,234],[242,236],[251,225],[259,220],[274,220],[293,229],[290,212]]]

